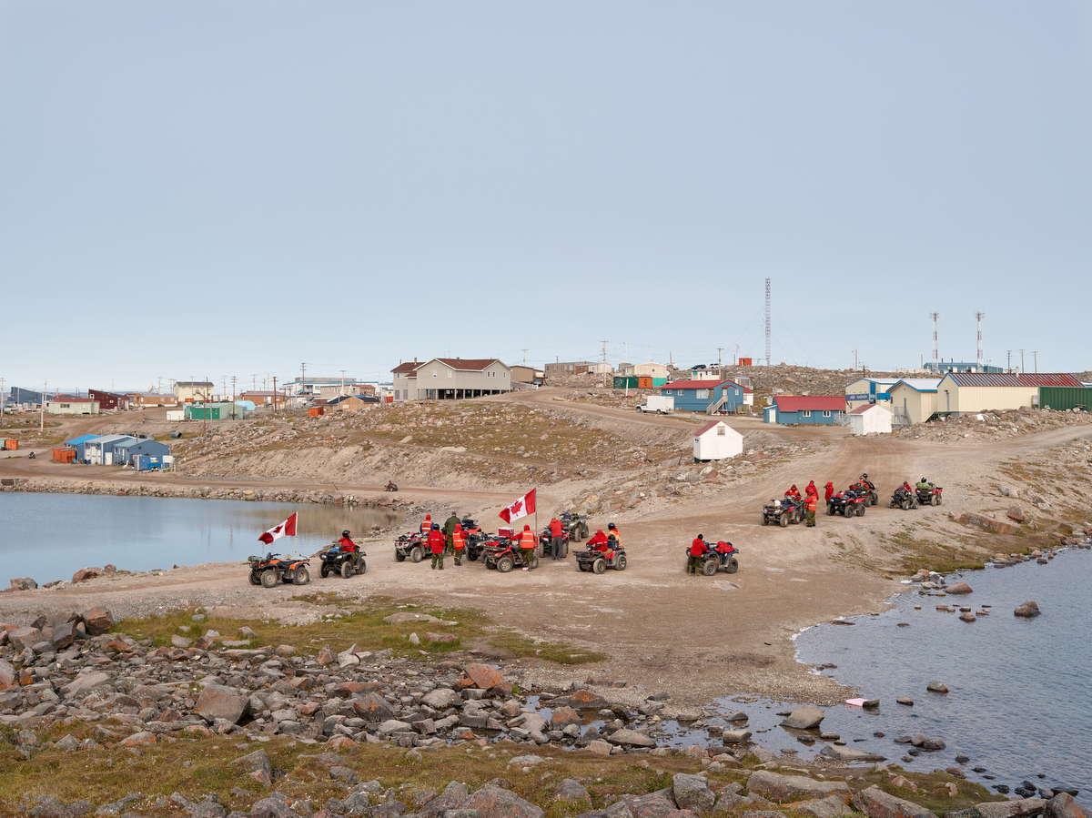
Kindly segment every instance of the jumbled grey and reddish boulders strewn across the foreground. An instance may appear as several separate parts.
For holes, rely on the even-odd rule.
[[[204,618],[195,614],[194,627],[200,629]],[[426,640],[450,638],[442,632],[446,623],[428,615],[397,613],[388,620],[419,623]],[[608,688],[597,690],[591,684],[541,687],[527,680],[522,669],[503,664],[417,662],[393,656],[389,650],[369,652],[356,645],[339,653],[324,647],[304,655],[287,645],[250,648],[253,633],[241,631],[229,637],[206,631],[193,639],[176,635],[169,645],[156,645],[152,639],[135,640],[116,632],[104,608],[43,616],[31,626],[3,626],[0,725],[26,761],[43,754],[94,758],[119,748],[136,758],[159,745],[195,736],[225,736],[256,745],[258,749],[239,755],[230,764],[232,779],[258,782],[271,791],[256,798],[247,811],[229,814],[222,803],[249,796],[250,790],[238,786],[203,801],[191,801],[192,794],[150,798],[112,793],[110,801],[98,804],[64,804],[44,796],[0,804],[0,810],[35,818],[92,814],[542,818],[543,808],[551,806],[535,806],[502,779],[474,791],[451,781],[439,795],[407,794],[390,782],[361,781],[366,771],[357,750],[384,745],[399,748],[411,763],[420,761],[423,754],[448,748],[511,755],[505,766],[523,772],[548,770],[549,754],[559,750],[604,759],[632,758],[645,766],[658,758],[692,760],[695,772],[675,774],[669,787],[629,793],[598,809],[592,808],[593,781],[560,781],[553,799],[567,803],[566,815],[589,818],[701,814],[774,818],[786,809],[814,818],[850,813],[869,818],[933,815],[912,799],[885,792],[916,791],[909,773],[874,763],[877,757],[839,745],[828,745],[820,754],[822,763],[802,768],[795,759],[775,757],[752,744],[743,711],[727,718],[731,726],[708,730],[707,742],[673,749],[664,744],[666,721],[691,714],[674,709],[666,693],[650,696],[634,708],[612,702]],[[821,710],[805,706],[786,714],[784,723],[818,735],[821,721]],[[82,740],[71,733],[57,740],[39,737],[91,724],[93,734]],[[700,720],[693,726],[700,726]],[[928,749],[917,738],[909,742]],[[300,757],[317,759],[330,779],[339,782],[343,797],[312,805],[272,792],[281,776],[264,746],[283,740],[292,742]],[[860,763],[867,767],[845,768]],[[956,798],[963,784],[956,772],[948,771],[934,785],[943,791],[940,795]],[[1037,793],[1040,797],[987,802],[972,808],[977,811],[948,815],[1090,818],[1092,813],[1073,802],[1072,794],[1044,790]],[[937,793],[929,797],[935,799]]]

